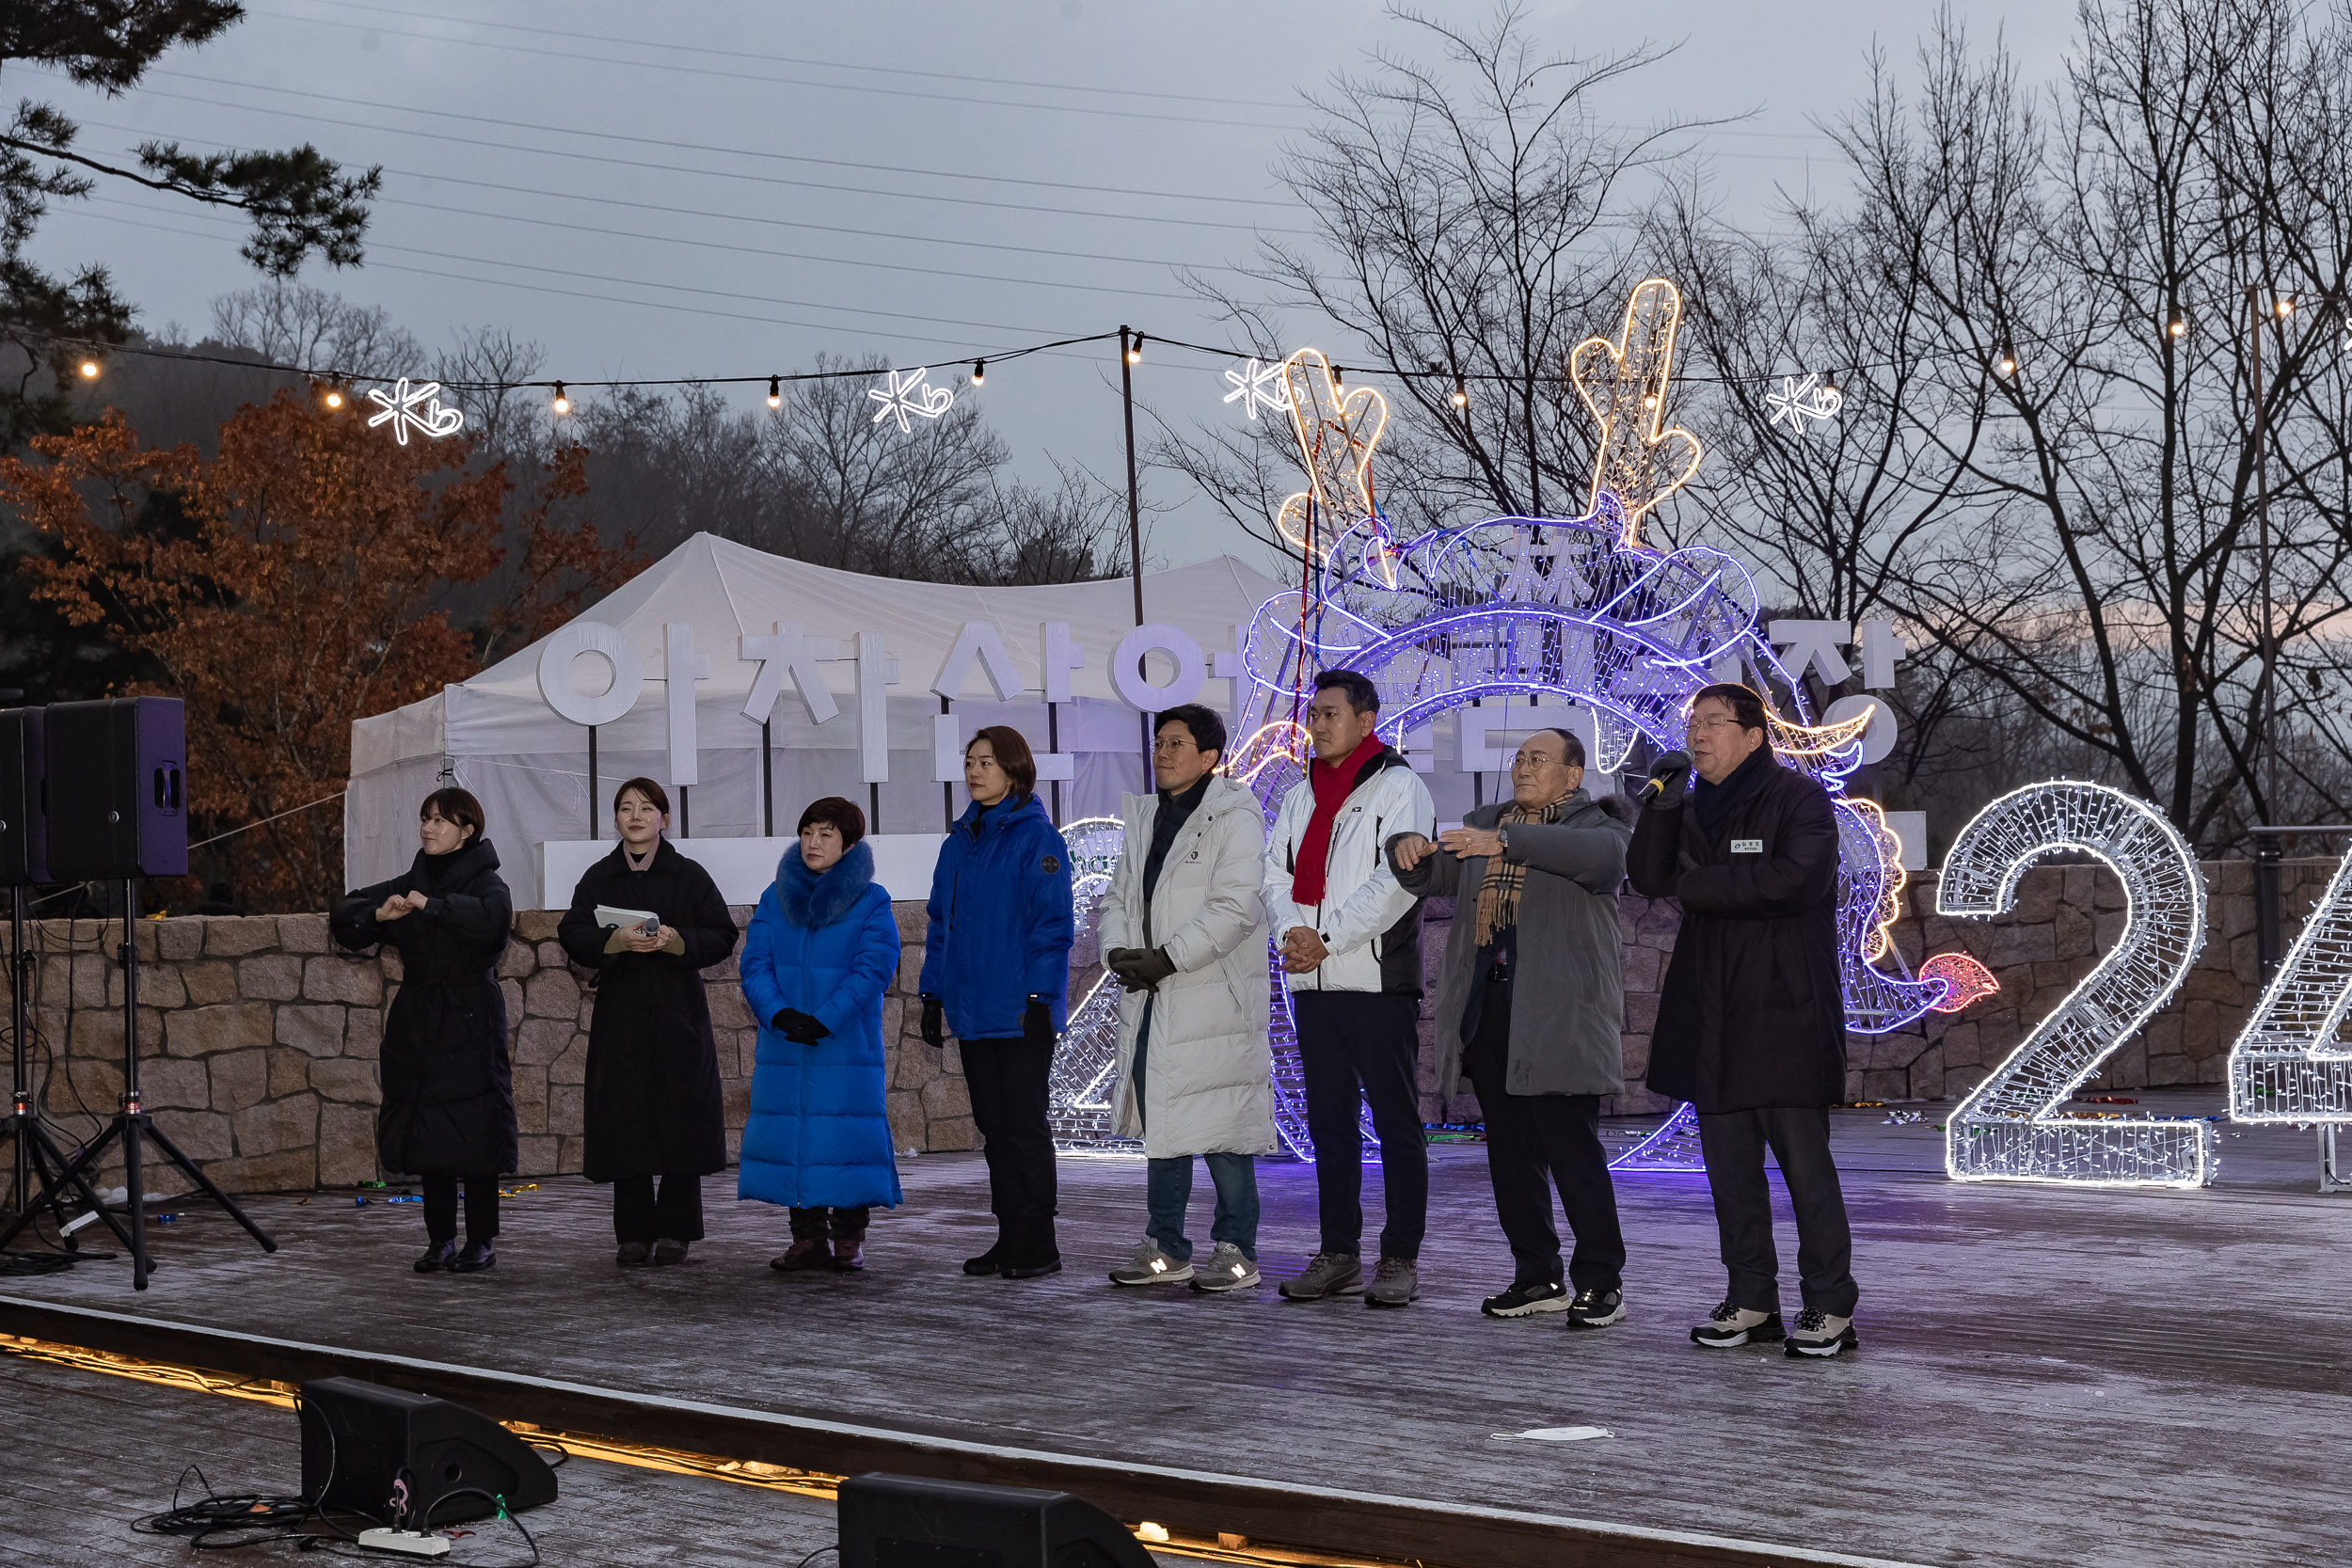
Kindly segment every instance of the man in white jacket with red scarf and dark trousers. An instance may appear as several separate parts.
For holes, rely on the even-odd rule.
[[[1265,839],[1265,919],[1282,945],[1298,1025],[1298,1065],[1315,1140],[1322,1246],[1291,1300],[1364,1293],[1369,1307],[1421,1295],[1430,1154],[1421,1138],[1421,900],[1383,851],[1399,832],[1435,835],[1437,809],[1404,757],[1374,733],[1378,689],[1355,670],[1315,677],[1315,759],[1282,797]],[[1357,1093],[1381,1138],[1385,1222],[1364,1281],[1364,1145]]]

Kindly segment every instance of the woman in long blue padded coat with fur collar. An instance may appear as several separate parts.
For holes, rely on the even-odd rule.
[[[898,919],[863,839],[866,813],[840,795],[802,811],[743,940],[760,1053],[736,1197],[790,1206],[793,1246],[769,1265],[786,1272],[863,1269],[868,1211],[898,1206],[882,1081]]]

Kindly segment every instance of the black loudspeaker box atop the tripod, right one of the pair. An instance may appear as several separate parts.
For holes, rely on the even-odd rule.
[[[49,703],[49,877],[188,875],[188,743],[179,698]]]

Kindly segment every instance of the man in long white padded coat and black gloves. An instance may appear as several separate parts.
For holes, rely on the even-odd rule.
[[[1265,929],[1258,797],[1218,778],[1225,722],[1185,703],[1160,715],[1157,795],[1124,802],[1127,842],[1103,893],[1103,964],[1120,997],[1117,1128],[1143,1138],[1150,1225],[1120,1286],[1258,1284],[1256,1157],[1275,1150],[1265,1046]],[[1216,1185],[1216,1251],[1192,1269],[1183,1211],[1192,1157]]]

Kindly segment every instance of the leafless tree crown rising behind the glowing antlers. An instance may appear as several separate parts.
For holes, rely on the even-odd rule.
[[[1581,508],[1592,433],[1566,355],[1623,310],[1642,275],[1642,176],[1693,127],[1613,129],[1599,99],[1670,49],[1545,54],[1517,2],[1482,28],[1390,16],[1435,45],[1439,63],[1381,49],[1367,75],[1308,99],[1319,120],[1275,174],[1310,214],[1315,242],[1263,244],[1251,268],[1263,299],[1195,287],[1261,353],[1289,348],[1275,320],[1301,310],[1345,334],[1334,360],[1383,374],[1381,470],[1402,531]],[[1456,407],[1456,388],[1468,407]],[[1251,435],[1275,451],[1169,433],[1155,461],[1223,491],[1228,515],[1265,538],[1254,491],[1279,473],[1287,433]]]

